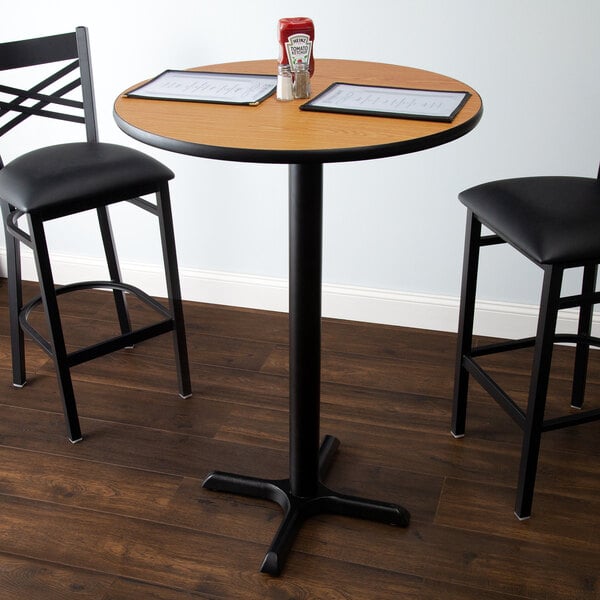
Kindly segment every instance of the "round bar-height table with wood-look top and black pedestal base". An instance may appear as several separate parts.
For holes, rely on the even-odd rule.
[[[275,74],[274,60],[198,67],[226,73]],[[321,264],[323,164],[417,152],[471,131],[482,115],[477,92],[436,73],[363,61],[318,59],[312,97],[334,82],[425,90],[468,91],[452,122],[299,110],[306,100],[257,106],[147,100],[120,95],[118,126],[131,137],[165,150],[228,161],[289,165],[290,250],[290,472],[284,480],[223,473],[208,475],[207,489],[267,498],[284,519],[261,570],[279,574],[305,518],[334,513],[407,526],[401,506],[334,492],[324,479],[339,441],[320,445]],[[365,482],[368,488],[368,482]]]

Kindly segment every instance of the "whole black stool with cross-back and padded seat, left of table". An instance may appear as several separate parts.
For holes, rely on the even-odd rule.
[[[168,182],[174,177],[173,172],[137,150],[98,141],[85,27],[78,27],[71,33],[0,44],[1,72],[50,63],[56,65],[48,68],[56,67],[57,70],[28,89],[0,86],[0,136],[35,116],[80,123],[85,126],[86,141],[38,148],[6,165],[0,159],[0,204],[7,246],[13,384],[21,387],[26,382],[23,332],[27,332],[54,361],[67,434],[72,442],[76,442],[81,439],[71,379],[71,368],[76,365],[172,332],[182,397],[191,395],[191,385],[169,197]],[[76,99],[73,99],[74,90],[81,94]],[[155,195],[155,203],[141,198],[150,194]],[[158,219],[168,309],[121,279],[107,207],[122,201],[128,201]],[[44,224],[87,210],[97,212],[110,279],[55,286]],[[20,226],[21,219],[27,222],[27,228]],[[25,305],[21,244],[33,251],[40,285],[40,296]],[[57,298],[90,288],[112,290],[120,335],[68,352]],[[132,326],[127,309],[128,294],[135,295],[156,311],[155,323],[138,328]],[[47,338],[28,320],[31,311],[40,303],[45,311]]]

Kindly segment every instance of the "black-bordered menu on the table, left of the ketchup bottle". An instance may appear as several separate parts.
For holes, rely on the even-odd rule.
[[[130,98],[254,106],[275,92],[277,76],[168,69],[127,92]]]

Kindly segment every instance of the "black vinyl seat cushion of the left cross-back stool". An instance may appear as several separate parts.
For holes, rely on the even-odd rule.
[[[78,212],[143,196],[173,179],[166,166],[132,148],[99,142],[34,150],[0,169],[0,200],[23,212]]]

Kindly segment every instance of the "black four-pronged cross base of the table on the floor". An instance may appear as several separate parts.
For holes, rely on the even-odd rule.
[[[316,493],[308,497],[295,495],[291,490],[289,479],[259,479],[215,471],[204,480],[202,487],[208,490],[263,498],[277,502],[283,508],[285,513],[283,521],[260,568],[263,573],[270,575],[281,573],[302,523],[306,518],[314,515],[324,513],[344,515],[401,527],[408,526],[410,514],[401,506],[339,494],[321,483],[339,445],[337,438],[325,436],[319,450],[319,481],[316,485]]]

